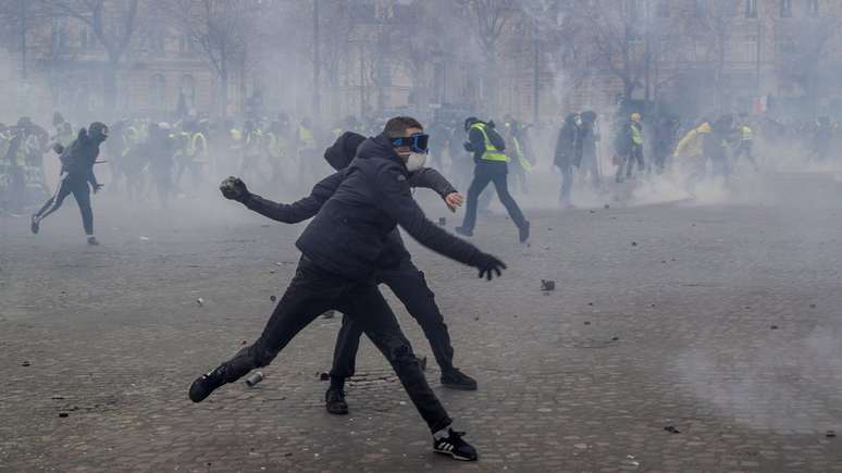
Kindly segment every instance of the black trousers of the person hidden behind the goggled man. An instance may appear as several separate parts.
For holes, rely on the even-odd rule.
[[[405,259],[397,269],[379,272],[375,282],[388,286],[421,325],[442,373],[453,370],[454,348],[450,345],[450,334],[435,303],[435,295],[426,285],[424,273],[419,271],[411,260]],[[354,376],[362,332],[362,325],[352,316],[343,316],[333,351],[332,378],[345,379]]]

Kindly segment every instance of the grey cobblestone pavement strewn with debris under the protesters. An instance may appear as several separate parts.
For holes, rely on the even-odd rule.
[[[0,471],[842,472],[827,434],[842,435],[840,196],[804,174],[729,204],[531,209],[529,247],[481,217],[474,241],[509,264],[493,283],[411,244],[476,393],[441,387],[384,292],[475,443],[470,464],[431,452],[368,340],[351,414],[324,411],[338,318],[258,387],[188,401],[260,333],[302,226],[221,200],[160,213],[98,196],[89,248],[72,203],[37,237],[0,217]],[[425,203],[434,220],[439,207]]]

